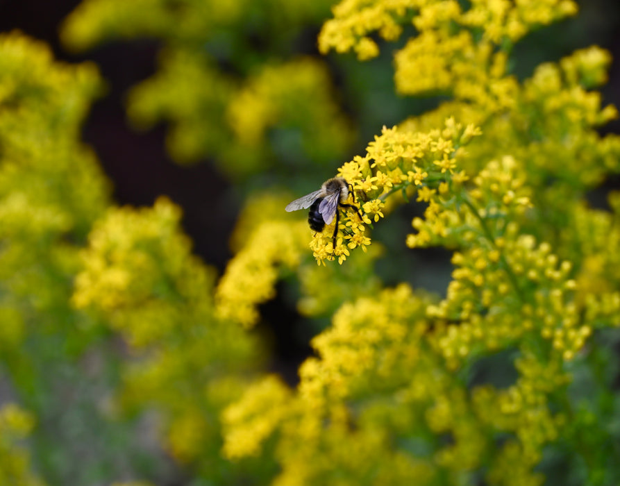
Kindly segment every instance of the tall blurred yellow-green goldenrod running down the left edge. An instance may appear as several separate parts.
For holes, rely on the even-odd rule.
[[[94,65],[53,62],[47,46],[12,33],[0,36],[0,86],[1,369],[36,416],[40,474],[51,484],[111,480],[119,469],[106,462],[136,455],[105,444],[131,432],[109,424],[92,396],[103,401],[118,357],[101,326],[71,305],[79,251],[110,203],[108,181],[79,141],[103,83]]]

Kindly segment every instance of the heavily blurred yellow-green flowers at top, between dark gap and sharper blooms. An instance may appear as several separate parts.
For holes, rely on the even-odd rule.
[[[271,171],[280,181],[335,165],[353,140],[326,66],[299,56],[326,0],[88,0],[67,18],[65,44],[162,40],[160,66],[128,97],[141,128],[168,121],[178,162],[210,158],[237,183]]]

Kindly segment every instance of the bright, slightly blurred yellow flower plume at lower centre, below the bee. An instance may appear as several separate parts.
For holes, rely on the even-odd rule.
[[[331,398],[363,393],[370,385],[367,372],[385,387],[392,380],[401,383],[403,376],[394,375],[394,367],[399,363],[405,374],[418,364],[415,348],[429,327],[426,305],[428,299],[417,298],[404,284],[342,305],[332,326],[312,340],[319,358],[309,358],[300,368],[300,396],[311,406],[324,406]],[[394,343],[399,346],[389,346]]]

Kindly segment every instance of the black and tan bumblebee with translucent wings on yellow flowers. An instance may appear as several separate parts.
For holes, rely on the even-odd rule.
[[[310,192],[299,199],[295,199],[285,208],[287,211],[296,211],[299,209],[310,208],[308,213],[308,224],[314,231],[323,231],[325,225],[330,225],[331,222],[336,219],[334,226],[334,234],[332,236],[333,246],[336,247],[336,235],[338,233],[338,221],[340,214],[338,208],[353,208],[362,219],[360,210],[351,204],[346,204],[344,201],[349,199],[349,194],[353,195],[353,201],[355,202],[355,194],[353,194],[353,188],[349,191],[351,185],[347,183],[342,177],[330,178],[321,185],[321,189]]]

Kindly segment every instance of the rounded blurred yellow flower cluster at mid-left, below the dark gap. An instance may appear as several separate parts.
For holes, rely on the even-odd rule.
[[[74,304],[96,305],[104,312],[137,312],[117,323],[133,346],[167,335],[183,309],[166,301],[203,300],[214,278],[190,255],[191,242],[178,231],[180,219],[178,207],[164,198],[152,209],[110,210],[90,234]]]

